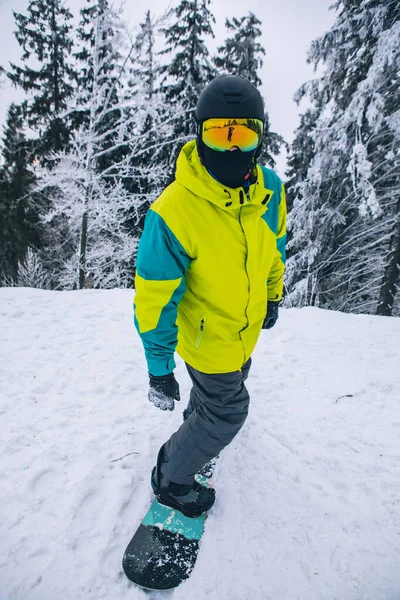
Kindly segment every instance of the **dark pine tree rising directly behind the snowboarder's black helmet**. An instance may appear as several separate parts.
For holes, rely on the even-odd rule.
[[[262,85],[259,71],[263,66],[266,52],[259,42],[262,36],[260,26],[261,21],[252,12],[240,19],[235,17],[232,20],[226,19],[225,27],[229,35],[213,57],[213,62],[220,73],[241,75],[256,87]],[[269,116],[266,111],[265,136],[259,162],[274,167],[273,155],[280,153],[282,144],[284,144],[283,138],[270,131]]]

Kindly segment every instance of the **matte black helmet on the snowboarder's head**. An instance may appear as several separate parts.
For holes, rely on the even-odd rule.
[[[201,92],[195,114],[197,122],[218,117],[264,121],[264,103],[260,92],[245,77],[220,75]]]

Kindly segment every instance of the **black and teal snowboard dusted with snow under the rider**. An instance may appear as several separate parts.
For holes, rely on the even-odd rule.
[[[196,479],[208,486],[201,475]],[[191,574],[196,564],[207,513],[186,517],[179,510],[153,500],[138,530],[129,542],[122,567],[137,586],[169,590]]]

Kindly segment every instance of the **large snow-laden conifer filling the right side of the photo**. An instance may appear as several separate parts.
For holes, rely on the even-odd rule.
[[[311,136],[312,151],[307,173],[292,188],[286,283],[296,304],[393,314],[400,11],[384,0],[338,0],[334,6],[335,25],[309,54],[325,72],[299,92],[311,100],[315,121],[310,128],[303,120],[295,140]]]

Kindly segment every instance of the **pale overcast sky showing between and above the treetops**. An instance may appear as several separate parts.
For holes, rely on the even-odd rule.
[[[127,0],[126,19],[134,27],[143,21],[144,13],[150,9],[161,14],[168,6],[176,6],[179,0],[168,3],[164,0]],[[216,18],[215,40],[209,49],[214,51],[225,38],[226,17],[241,17],[249,10],[262,21],[262,45],[266,50],[264,66],[260,73],[263,81],[262,93],[273,131],[280,133],[290,142],[299,123],[298,108],[293,95],[302,83],[313,78],[312,67],[306,63],[310,43],[334,22],[334,11],[329,10],[333,0],[252,0],[251,6],[244,0],[213,0],[211,11]],[[8,61],[18,62],[21,49],[15,40],[12,10],[26,13],[29,0],[0,0],[0,64],[7,68]],[[78,14],[84,0],[66,0],[71,12]],[[140,6],[140,10],[138,8]],[[3,86],[0,89],[0,124],[4,123],[7,108],[21,95],[15,89]],[[277,170],[283,175],[285,159],[278,159]]]

